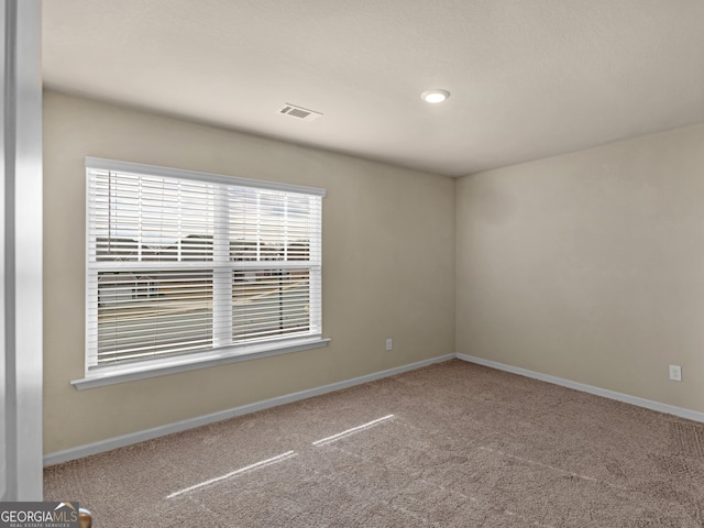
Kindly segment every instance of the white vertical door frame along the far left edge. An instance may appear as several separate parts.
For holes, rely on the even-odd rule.
[[[0,0],[0,499],[42,501],[41,0]]]

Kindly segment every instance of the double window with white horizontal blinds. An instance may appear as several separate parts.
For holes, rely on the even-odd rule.
[[[324,344],[323,189],[97,158],[86,173],[87,380]]]

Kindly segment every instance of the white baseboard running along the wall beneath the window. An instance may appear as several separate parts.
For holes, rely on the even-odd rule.
[[[166,435],[173,435],[174,432],[186,431],[196,427],[206,426],[216,421],[227,420],[237,416],[248,415],[250,413],[256,413],[257,410],[268,409],[284,404],[290,404],[298,402],[299,399],[310,398],[312,396],[319,396],[326,393],[332,393],[342,388],[352,387],[354,385],[361,385],[363,383],[373,382],[383,377],[393,376],[403,372],[414,371],[424,366],[431,365],[433,363],[441,363],[455,358],[455,354],[441,355],[439,358],[432,358],[430,360],[419,361],[409,365],[397,366],[395,369],[388,369],[386,371],[375,372],[373,374],[366,374],[364,376],[354,377],[352,380],[345,380],[343,382],[331,383],[329,385],[322,385],[320,387],[309,388],[300,391],[298,393],[286,394],[276,398],[265,399],[263,402],[256,402],[254,404],[242,405],[232,409],[221,410],[219,413],[212,413],[210,415],[199,416],[197,418],[190,418],[188,420],[182,420],[174,424],[167,424],[161,427],[154,427],[152,429],[144,429],[142,431],[131,432],[121,437],[109,438],[99,442],[87,443],[77,448],[70,448],[63,451],[56,451],[44,455],[44,466],[59,464],[69,460],[80,459],[91,454],[102,453],[111,451],[113,449],[123,448],[125,446],[132,446],[134,443],[143,442],[144,440],[152,440],[154,438],[163,437]]]

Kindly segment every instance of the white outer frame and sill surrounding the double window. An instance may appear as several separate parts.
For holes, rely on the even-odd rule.
[[[245,342],[245,343],[230,343],[223,346],[210,348],[205,351],[196,351],[188,352],[180,355],[165,355],[162,358],[151,359],[151,360],[139,360],[134,362],[124,362],[118,363],[113,365],[98,365],[97,359],[95,361],[91,360],[91,351],[89,343],[89,331],[91,330],[90,324],[96,324],[95,330],[97,331],[97,311],[98,311],[98,295],[90,295],[89,293],[89,280],[94,279],[97,282],[99,274],[99,265],[95,262],[90,262],[90,252],[88,244],[91,239],[91,202],[90,202],[90,186],[89,186],[89,174],[91,170],[108,170],[116,173],[128,173],[132,175],[141,175],[141,176],[154,176],[154,177],[166,177],[166,178],[177,178],[185,179],[190,182],[202,182],[215,185],[226,185],[226,186],[237,186],[237,187],[250,187],[254,189],[261,190],[274,190],[274,191],[283,191],[283,193],[293,193],[297,195],[309,195],[314,197],[320,197],[320,200],[326,196],[326,190],[317,187],[305,187],[299,185],[292,184],[280,184],[275,182],[266,182],[266,180],[257,180],[257,179],[249,179],[241,178],[234,176],[224,176],[219,174],[211,173],[202,173],[202,172],[194,172],[194,170],[185,170],[169,167],[162,167],[155,165],[144,165],[131,162],[120,162],[114,160],[105,160],[98,157],[86,157],[85,160],[86,167],[86,292],[85,292],[85,301],[86,301],[86,312],[85,312],[85,377],[80,380],[72,381],[72,385],[76,388],[91,388],[102,385],[110,385],[114,383],[122,383],[134,380],[142,380],[147,377],[161,376],[177,372],[185,372],[195,369],[204,369],[209,366],[216,366],[220,364],[227,364],[239,361],[248,361],[257,358],[265,358],[270,355],[284,354],[289,352],[297,352],[301,350],[309,350],[326,346],[329,339],[322,338],[322,257],[320,255],[319,261],[317,262],[317,283],[315,285],[317,294],[316,302],[318,304],[318,309],[315,314],[315,322],[317,323],[318,331],[310,331],[305,336],[295,336],[295,337],[283,337],[271,340],[262,340],[254,342]],[[322,246],[322,218],[321,215],[317,218],[318,233],[319,240],[317,240],[317,246],[321,251]],[[311,241],[312,246],[312,241]],[[179,261],[180,262],[180,261]],[[204,262],[194,263],[196,265],[204,265]],[[270,265],[271,264],[271,265]],[[280,264],[280,265],[279,265]],[[154,265],[150,263],[150,265]],[[238,267],[239,265],[232,265],[233,267]],[[109,267],[109,266],[108,266]],[[113,266],[113,267],[124,267],[125,271],[129,271],[129,266]],[[144,267],[144,262],[139,261],[135,262],[134,267]],[[162,266],[156,266],[162,268]],[[163,268],[168,268],[168,262],[165,262]],[[217,263],[215,260],[210,265],[205,265],[204,267],[210,267],[211,270],[217,268]],[[246,267],[242,266],[242,267]],[[272,261],[260,263],[258,267],[268,267],[268,268],[286,268],[286,267],[296,267],[294,263],[292,265],[290,261]],[[312,268],[312,264],[310,266],[304,266],[306,270]],[[94,275],[91,275],[94,274]],[[97,288],[96,288],[97,290]],[[213,299],[215,301],[215,299]],[[89,319],[95,317],[96,322],[89,322]],[[97,343],[97,338],[96,338]],[[97,352],[94,352],[97,353]],[[94,363],[94,364],[91,364]]]

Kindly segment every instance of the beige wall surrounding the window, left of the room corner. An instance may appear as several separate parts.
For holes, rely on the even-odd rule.
[[[324,187],[330,345],[75,389],[69,381],[84,374],[85,156]],[[44,167],[46,453],[454,352],[450,178],[52,91]]]

